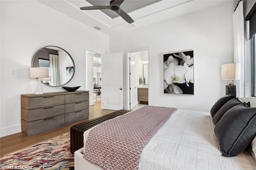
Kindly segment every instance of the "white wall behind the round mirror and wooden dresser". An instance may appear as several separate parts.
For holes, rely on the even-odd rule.
[[[20,95],[35,93],[37,81],[30,78],[34,53],[47,45],[59,46],[72,56],[75,75],[65,86],[84,89],[84,47],[108,53],[109,36],[89,28],[36,1],[0,1],[0,136],[21,131]],[[100,40],[100,41],[98,41]],[[16,74],[11,75],[15,69]],[[42,85],[44,93],[64,91]]]

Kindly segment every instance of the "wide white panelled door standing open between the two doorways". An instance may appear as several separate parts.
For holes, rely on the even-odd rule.
[[[102,109],[123,109],[123,53],[102,55]]]

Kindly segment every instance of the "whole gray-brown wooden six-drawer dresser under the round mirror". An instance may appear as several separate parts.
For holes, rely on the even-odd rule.
[[[21,95],[21,130],[28,136],[88,117],[88,91]]]

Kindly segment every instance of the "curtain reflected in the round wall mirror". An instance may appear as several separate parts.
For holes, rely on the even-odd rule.
[[[52,76],[50,85],[60,86],[59,55],[50,54],[50,75]]]

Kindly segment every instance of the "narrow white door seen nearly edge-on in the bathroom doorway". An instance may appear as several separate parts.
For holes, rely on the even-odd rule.
[[[136,87],[136,62],[134,57],[130,55],[130,109],[138,104],[138,95]]]

